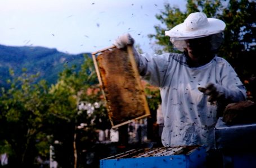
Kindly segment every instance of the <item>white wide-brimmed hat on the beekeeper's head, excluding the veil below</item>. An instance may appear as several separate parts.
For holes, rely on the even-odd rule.
[[[226,24],[218,18],[207,18],[203,12],[190,13],[182,24],[179,24],[165,35],[172,40],[186,40],[202,38],[204,36],[223,32]]]

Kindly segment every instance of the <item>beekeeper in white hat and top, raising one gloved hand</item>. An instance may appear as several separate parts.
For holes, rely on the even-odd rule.
[[[133,47],[140,75],[160,87],[163,146],[213,148],[213,129],[220,105],[246,99],[245,87],[234,69],[215,54],[225,27],[222,20],[195,12],[182,24],[165,31],[182,54],[140,55]],[[114,43],[117,48],[133,44],[130,34],[119,36]]]

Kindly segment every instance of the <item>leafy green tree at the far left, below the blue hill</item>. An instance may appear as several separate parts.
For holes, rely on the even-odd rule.
[[[0,101],[0,142],[8,153],[10,167],[33,167],[38,149],[35,146],[47,110],[47,85],[45,81],[33,84],[38,74],[22,76],[11,82],[11,88],[2,88]],[[14,72],[11,71],[12,76]]]

